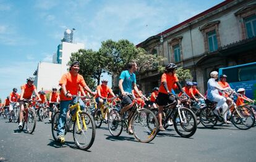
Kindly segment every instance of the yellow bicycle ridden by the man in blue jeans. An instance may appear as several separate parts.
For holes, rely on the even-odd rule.
[[[82,97],[80,95],[73,95],[73,98],[77,97],[77,101]],[[75,145],[81,150],[88,150],[92,147],[95,139],[95,123],[93,121],[92,115],[86,111],[80,110],[79,102],[75,103],[69,107],[70,109],[70,122],[69,126],[73,125],[73,139]],[[55,141],[58,141],[57,129],[59,124],[60,111],[56,112],[53,116],[53,121],[51,124],[51,132]],[[65,123],[65,134],[67,133],[67,122]],[[64,140],[59,141],[61,143]]]

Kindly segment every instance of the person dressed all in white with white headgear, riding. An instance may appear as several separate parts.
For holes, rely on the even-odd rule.
[[[211,102],[217,102],[215,110],[213,110],[213,113],[215,113],[216,116],[218,115],[218,110],[220,108],[223,108],[223,119],[226,124],[231,123],[230,121],[227,121],[227,112],[228,104],[226,103],[225,97],[219,94],[219,92],[223,92],[225,89],[221,87],[216,79],[218,79],[218,72],[212,71],[210,73],[211,78],[207,82],[207,99]]]

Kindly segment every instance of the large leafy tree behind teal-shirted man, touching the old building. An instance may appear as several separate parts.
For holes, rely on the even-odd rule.
[[[133,43],[125,39],[117,42],[111,39],[103,41],[99,52],[107,58],[106,69],[114,76],[126,70],[128,63],[132,60],[140,67],[139,73],[158,68],[159,66],[156,65],[164,60],[163,57],[147,54],[144,49],[135,47]]]

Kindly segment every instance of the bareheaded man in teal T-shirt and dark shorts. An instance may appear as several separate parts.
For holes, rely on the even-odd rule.
[[[134,105],[135,102],[133,102],[132,95],[132,89],[135,89],[135,92],[139,95],[139,97],[142,97],[142,94],[140,94],[139,89],[136,85],[136,75],[135,71],[137,71],[138,66],[135,62],[128,63],[128,70],[122,71],[120,77],[119,77],[119,90],[121,93],[121,100],[122,100],[122,109],[120,111],[121,118],[124,112],[129,111],[130,108]],[[131,120],[130,120],[131,121]],[[128,124],[128,132],[129,134],[134,134],[132,131],[131,123]]]

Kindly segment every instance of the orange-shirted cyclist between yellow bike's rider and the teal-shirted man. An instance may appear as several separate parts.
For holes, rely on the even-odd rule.
[[[108,94],[114,96],[112,89],[108,87],[108,79],[103,79],[101,81],[101,85],[98,85],[96,87],[96,90],[97,90],[97,94],[95,96],[95,100],[98,103],[98,107],[103,108],[103,110],[105,111],[105,108],[102,107],[102,105],[107,102]],[[104,117],[105,123],[106,123],[106,121],[108,119],[107,113],[103,117]]]

